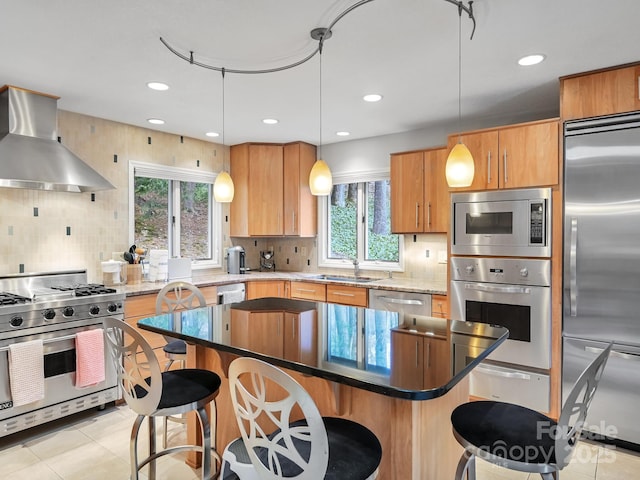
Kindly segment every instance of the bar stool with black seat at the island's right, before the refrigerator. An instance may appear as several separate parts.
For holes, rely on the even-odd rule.
[[[451,414],[453,435],[465,448],[456,480],[476,478],[476,457],[520,472],[557,480],[571,461],[589,405],[609,358],[609,344],[582,372],[553,419],[520,405],[494,401],[469,402]]]

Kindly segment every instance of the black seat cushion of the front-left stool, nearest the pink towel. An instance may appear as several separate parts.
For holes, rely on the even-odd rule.
[[[150,378],[146,379],[149,383]],[[215,393],[220,388],[220,377],[208,370],[184,368],[162,372],[162,395],[158,409],[178,407],[198,402]],[[146,392],[136,386],[138,398]]]

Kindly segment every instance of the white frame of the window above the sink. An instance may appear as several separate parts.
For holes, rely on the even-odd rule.
[[[367,183],[380,180],[389,180],[390,174],[388,170],[377,170],[369,172],[359,172],[357,174],[341,174],[333,176],[334,184],[341,183]],[[353,262],[349,259],[337,259],[328,257],[329,244],[329,202],[331,196],[318,197],[318,266],[327,268],[344,268],[353,270]],[[362,218],[361,209],[364,205],[364,191],[358,188],[358,218]],[[384,272],[403,272],[404,271],[404,235],[398,235],[398,261],[397,262],[381,262],[365,260],[365,226],[362,222],[358,222],[360,228],[357,231],[358,244],[358,266],[363,270],[378,270]]]

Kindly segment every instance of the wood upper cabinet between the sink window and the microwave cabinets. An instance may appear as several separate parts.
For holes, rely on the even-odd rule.
[[[449,190],[447,150],[433,148],[391,155],[391,231],[446,232]]]

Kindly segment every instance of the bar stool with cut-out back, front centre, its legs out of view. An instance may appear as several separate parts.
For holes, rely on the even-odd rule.
[[[238,358],[229,366],[229,389],[242,437],[223,453],[223,479],[376,478],[382,447],[375,434],[351,420],[321,417],[306,390],[279,368]]]

